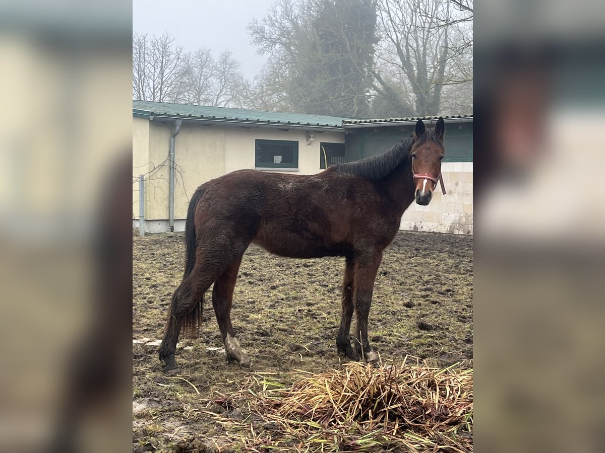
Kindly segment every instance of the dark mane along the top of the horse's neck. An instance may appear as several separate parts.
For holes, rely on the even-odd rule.
[[[389,173],[399,167],[407,158],[411,149],[412,138],[405,138],[391,149],[379,154],[346,164],[331,165],[330,169],[340,175],[355,175],[378,181],[386,178]]]

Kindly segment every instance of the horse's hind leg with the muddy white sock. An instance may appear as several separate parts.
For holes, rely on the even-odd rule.
[[[235,360],[240,365],[247,367],[250,365],[250,358],[241,349],[240,342],[235,338],[235,331],[231,324],[231,306],[233,303],[233,291],[237,272],[240,269],[241,256],[235,258],[227,269],[214,282],[212,290],[212,306],[217,315],[218,328],[223,336],[227,360]]]

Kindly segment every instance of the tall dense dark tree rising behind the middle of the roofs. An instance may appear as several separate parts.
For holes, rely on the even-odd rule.
[[[374,0],[278,0],[249,26],[258,53],[270,54],[266,94],[290,111],[367,115],[375,29]]]

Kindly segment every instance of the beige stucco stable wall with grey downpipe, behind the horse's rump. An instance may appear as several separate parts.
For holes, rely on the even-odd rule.
[[[145,219],[168,219],[168,150],[172,123],[132,119],[132,176],[145,174]],[[306,130],[278,130],[262,127],[202,126],[183,123],[175,138],[174,218],[185,219],[189,199],[206,181],[241,169],[253,169],[255,140],[298,141],[299,175],[313,175],[319,169],[319,143],[344,143],[343,132],[313,132],[307,145]],[[289,172],[290,173],[290,172]],[[139,217],[138,184],[132,187],[133,218]]]

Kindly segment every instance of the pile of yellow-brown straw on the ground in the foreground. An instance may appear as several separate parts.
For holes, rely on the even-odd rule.
[[[295,451],[473,451],[473,370],[409,361],[376,368],[352,362],[268,391],[280,384],[264,377],[263,393],[248,390],[257,396],[249,409],[272,431],[238,439],[248,451],[280,448],[275,432],[290,447],[301,441]]]

